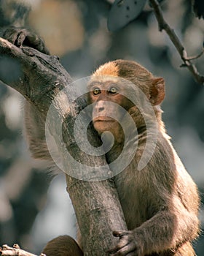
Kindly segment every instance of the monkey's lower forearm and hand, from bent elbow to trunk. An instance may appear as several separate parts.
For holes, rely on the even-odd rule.
[[[131,252],[141,256],[165,251],[176,252],[184,243],[191,248],[188,242],[189,238],[195,238],[192,234],[197,233],[197,217],[187,211],[182,212],[180,217],[178,219],[170,211],[160,211],[135,230],[114,231],[114,236],[119,237],[119,243],[109,252],[114,256],[129,255]],[[193,255],[193,250],[189,255]]]

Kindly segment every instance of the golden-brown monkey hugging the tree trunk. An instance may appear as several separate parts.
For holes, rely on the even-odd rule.
[[[130,81],[146,95],[157,120],[156,147],[142,170],[138,170],[138,162],[147,140],[146,123],[137,105],[123,95],[126,91],[133,94],[136,89],[133,86],[128,89],[128,83],[122,85],[118,78]],[[192,241],[199,233],[197,215],[200,199],[195,182],[181,163],[165,131],[160,108],[165,98],[164,79],[154,77],[135,61],[120,59],[109,61],[96,69],[88,88],[87,102],[95,103],[92,111],[94,129],[99,136],[106,131],[114,135],[114,146],[106,153],[109,164],[119,156],[124,140],[122,127],[110,116],[117,116],[119,121],[125,116],[117,108],[109,108],[107,102],[124,108],[137,127],[137,134],[133,132],[138,142],[136,154],[125,170],[114,176],[127,230],[113,230],[113,236],[118,237],[119,241],[114,248],[110,248],[109,255],[195,255]],[[44,120],[39,119],[31,105],[26,109],[25,116],[33,157],[52,162],[45,142]],[[39,121],[42,124],[39,125]],[[132,140],[133,135],[130,131],[127,139]],[[77,240],[81,241],[80,232]],[[82,244],[76,244],[74,238],[69,236],[55,238],[42,252],[47,256],[83,255]]]

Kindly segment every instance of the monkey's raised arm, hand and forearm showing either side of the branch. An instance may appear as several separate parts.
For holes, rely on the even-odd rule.
[[[1,29],[1,37],[12,42],[17,47],[29,46],[42,53],[50,54],[44,41],[33,31],[24,28],[9,26]],[[29,149],[34,159],[43,159],[47,162],[47,167],[52,170],[58,168],[54,164],[47,149],[45,138],[45,119],[42,118],[39,110],[31,102],[25,102],[25,132]]]

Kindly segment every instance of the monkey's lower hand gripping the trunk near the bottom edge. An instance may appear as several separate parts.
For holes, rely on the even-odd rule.
[[[134,231],[114,231],[113,235],[119,237],[117,246],[109,250],[111,256],[142,256],[143,246],[137,241]]]

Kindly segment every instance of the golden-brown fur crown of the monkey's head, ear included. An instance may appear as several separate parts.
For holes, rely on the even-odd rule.
[[[111,78],[110,78],[111,76]],[[160,103],[165,97],[165,81],[162,78],[156,78],[149,70],[142,67],[136,61],[128,61],[118,59],[102,64],[95,72],[93,72],[90,85],[95,81],[106,83],[111,81],[117,83],[118,78],[129,80],[133,85],[144,92],[149,102],[151,102],[157,118],[161,118],[162,110]],[[130,86],[130,83],[125,83]],[[129,87],[129,93],[136,93],[135,86]]]

